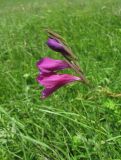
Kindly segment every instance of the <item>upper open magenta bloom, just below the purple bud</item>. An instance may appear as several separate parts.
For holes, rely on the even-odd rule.
[[[48,57],[42,58],[37,62],[37,67],[41,71],[41,73],[50,73],[57,70],[62,70],[65,68],[70,68],[68,63],[63,60],[55,60]]]

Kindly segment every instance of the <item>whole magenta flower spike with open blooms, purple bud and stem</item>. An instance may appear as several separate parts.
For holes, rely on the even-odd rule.
[[[48,57],[42,58],[37,62],[37,67],[40,71],[37,81],[44,86],[41,98],[46,98],[60,87],[69,84],[74,81],[81,81],[88,83],[83,75],[80,67],[76,64],[76,57],[72,53],[71,49],[65,44],[63,39],[56,33],[48,31],[49,38],[47,45],[49,48],[56,52],[60,52],[66,61],[55,60]],[[70,68],[74,70],[80,77],[70,74],[58,74],[57,71]]]

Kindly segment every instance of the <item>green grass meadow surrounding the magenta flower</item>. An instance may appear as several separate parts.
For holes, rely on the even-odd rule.
[[[92,88],[40,100],[36,62],[62,35]],[[121,1],[0,0],[0,160],[121,160]],[[39,88],[38,88],[39,86]]]

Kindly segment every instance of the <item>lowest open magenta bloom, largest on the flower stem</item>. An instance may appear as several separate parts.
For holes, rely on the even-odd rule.
[[[80,77],[72,76],[69,74],[40,74],[37,81],[45,87],[42,91],[42,98],[46,98],[60,87],[71,83],[73,81],[81,81]]]

